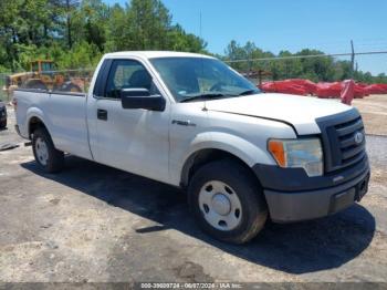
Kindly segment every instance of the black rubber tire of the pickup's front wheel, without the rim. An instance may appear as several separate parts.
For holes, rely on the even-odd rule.
[[[207,208],[203,208],[206,205],[199,204],[199,194],[211,180],[221,182],[232,188],[240,200],[241,218],[238,226],[231,230],[217,229],[205,218]],[[268,218],[268,206],[258,180],[248,168],[231,159],[217,160],[200,167],[189,183],[188,199],[194,216],[203,231],[227,242],[248,242],[264,227]]]

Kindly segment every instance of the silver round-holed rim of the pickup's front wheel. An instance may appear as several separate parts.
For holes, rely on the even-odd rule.
[[[208,224],[219,230],[233,230],[242,219],[242,206],[227,184],[211,180],[199,193],[199,206]]]

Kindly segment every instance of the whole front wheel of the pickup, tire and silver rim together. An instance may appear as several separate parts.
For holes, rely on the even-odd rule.
[[[266,203],[248,168],[233,160],[207,164],[194,175],[188,197],[199,226],[215,238],[243,244],[268,218]]]

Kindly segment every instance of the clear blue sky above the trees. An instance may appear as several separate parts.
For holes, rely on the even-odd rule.
[[[128,0],[104,0],[125,4]],[[231,40],[278,53],[318,49],[326,53],[387,51],[387,0],[163,0],[187,32],[224,53]],[[200,30],[201,14],[201,30]],[[349,58],[347,58],[349,60]],[[357,55],[359,70],[387,73],[387,54]]]

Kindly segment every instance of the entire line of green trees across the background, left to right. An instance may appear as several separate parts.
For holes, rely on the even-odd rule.
[[[125,7],[112,7],[102,0],[1,0],[0,72],[30,70],[36,59],[55,61],[59,70],[94,68],[112,51],[171,50],[211,54],[203,39],[172,22],[160,0],[132,0]],[[305,49],[279,54],[263,51],[253,42],[231,41],[224,61],[262,58],[314,55],[322,51]],[[238,62],[240,71],[263,70],[273,80],[305,77],[336,81],[354,77],[360,82],[387,83],[386,74],[352,72],[348,61],[333,58],[293,59],[264,62]]]

